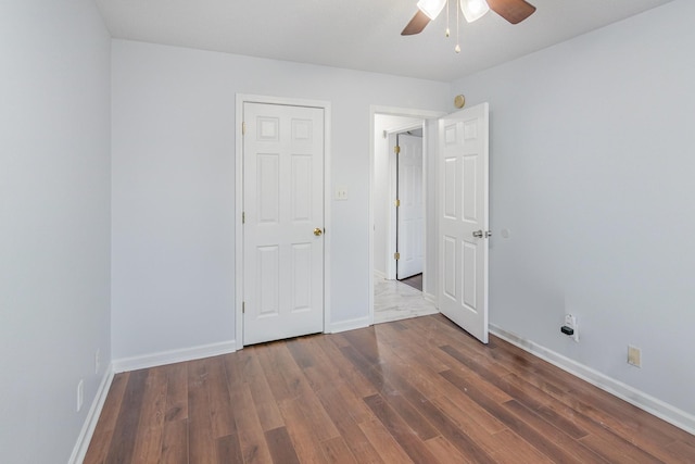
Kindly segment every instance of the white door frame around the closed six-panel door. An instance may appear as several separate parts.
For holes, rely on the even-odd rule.
[[[282,97],[237,93],[235,124],[235,331],[236,349],[243,348],[243,121],[244,103],[282,104],[288,106],[313,106],[324,110],[324,333],[330,327],[330,102]]]

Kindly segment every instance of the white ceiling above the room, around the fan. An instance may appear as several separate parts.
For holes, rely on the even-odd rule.
[[[445,11],[402,37],[417,0],[97,0],[115,38],[451,81],[671,0],[530,0],[511,25],[494,12],[476,23]]]

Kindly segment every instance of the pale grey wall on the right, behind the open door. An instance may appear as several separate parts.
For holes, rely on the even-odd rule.
[[[452,86],[491,108],[491,323],[691,417],[693,17],[675,0]]]

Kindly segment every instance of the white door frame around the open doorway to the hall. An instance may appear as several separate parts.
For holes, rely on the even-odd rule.
[[[375,116],[377,114],[386,114],[390,116],[404,116],[404,117],[419,117],[425,120],[434,120],[440,116],[445,115],[446,113],[442,111],[431,111],[431,110],[415,110],[407,108],[397,108],[397,106],[380,106],[380,105],[370,105],[369,106],[369,267],[366,269],[367,275],[369,276],[369,324],[374,324],[374,181],[375,181]],[[381,135],[379,135],[381,136]],[[437,135],[434,135],[437,137]],[[422,155],[430,156],[435,155],[437,153],[427,153],[427,128],[422,130]],[[424,179],[427,179],[427,173],[422,173]],[[427,180],[424,181],[424,195],[427,196]],[[427,241],[429,238],[427,236],[427,231],[425,233],[425,240]],[[427,262],[426,262],[427,263]],[[426,264],[427,265],[427,264]]]

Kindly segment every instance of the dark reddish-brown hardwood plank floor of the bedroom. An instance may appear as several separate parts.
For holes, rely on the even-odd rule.
[[[85,463],[693,463],[695,437],[441,315],[118,374]]]

